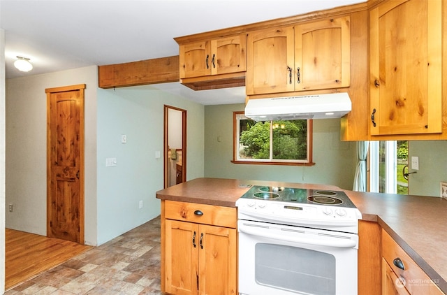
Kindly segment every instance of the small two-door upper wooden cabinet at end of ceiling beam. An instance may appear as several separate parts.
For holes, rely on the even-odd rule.
[[[180,44],[180,79],[244,72],[246,44],[245,34]]]

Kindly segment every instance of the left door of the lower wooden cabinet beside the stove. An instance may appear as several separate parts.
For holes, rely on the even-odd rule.
[[[198,225],[166,220],[166,292],[198,294]]]

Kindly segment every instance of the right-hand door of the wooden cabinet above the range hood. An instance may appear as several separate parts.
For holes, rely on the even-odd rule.
[[[295,26],[295,91],[349,87],[350,48],[349,16]]]

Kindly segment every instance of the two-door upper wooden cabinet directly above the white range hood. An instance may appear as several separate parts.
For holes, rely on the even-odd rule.
[[[350,85],[349,16],[249,32],[247,95]]]

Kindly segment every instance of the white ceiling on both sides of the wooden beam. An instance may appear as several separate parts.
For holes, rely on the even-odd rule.
[[[6,78],[178,55],[173,38],[365,0],[0,0]],[[34,69],[14,68],[16,57]],[[194,92],[151,85],[207,104],[243,103],[244,87]]]

